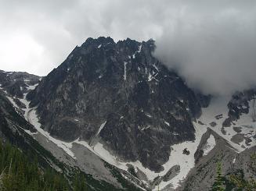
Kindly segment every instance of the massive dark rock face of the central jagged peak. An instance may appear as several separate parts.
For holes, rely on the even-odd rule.
[[[207,101],[154,58],[154,48],[152,40],[110,37],[74,48],[27,95],[45,130],[66,141],[99,137],[123,160],[159,172],[172,144],[194,140],[191,121]]]

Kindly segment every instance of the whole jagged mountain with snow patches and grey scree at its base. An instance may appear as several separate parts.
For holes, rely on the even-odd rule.
[[[256,89],[200,94],[154,49],[153,40],[88,38],[49,75],[23,77],[14,91],[23,96],[0,72],[2,94],[27,136],[84,172],[91,189],[210,190],[218,161],[227,190],[229,175],[254,177]]]

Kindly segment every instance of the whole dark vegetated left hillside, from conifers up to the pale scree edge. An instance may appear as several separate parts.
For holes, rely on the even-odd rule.
[[[9,127],[9,122],[12,122],[12,127],[15,130]],[[0,93],[0,134],[2,133],[2,137],[5,137],[5,140],[10,143],[1,144],[0,191],[140,190],[124,179],[121,173],[115,169],[112,170],[112,174],[124,186],[124,189],[117,188],[110,182],[96,179],[93,175],[81,172],[77,167],[59,161],[49,150],[45,150],[36,140],[25,133],[23,128],[29,129],[30,124],[16,113],[13,106]],[[2,143],[1,139],[0,142]],[[20,164],[22,165],[18,168]],[[63,175],[56,172],[51,166],[58,168]],[[109,168],[113,167],[109,165]],[[9,169],[11,170],[9,171]],[[23,173],[20,174],[19,171]],[[19,177],[23,177],[22,182]],[[36,186],[33,187],[33,184]],[[20,185],[24,185],[24,187]]]

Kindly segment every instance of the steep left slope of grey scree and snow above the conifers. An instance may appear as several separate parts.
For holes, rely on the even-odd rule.
[[[2,71],[2,73],[8,72]],[[23,77],[27,80],[27,76]],[[18,79],[14,78],[14,80]],[[20,80],[22,81],[22,79]],[[29,102],[26,100],[26,95],[28,91],[33,90],[38,81],[29,82],[27,80],[25,82],[31,85],[23,91],[23,98],[9,94],[5,87],[0,88],[1,141],[16,145],[24,154],[28,154],[27,156],[31,156],[30,154],[36,156],[40,168],[53,168],[57,172],[61,172],[66,177],[67,182],[71,183],[75,173],[81,172],[85,175],[88,190],[140,190],[138,186],[134,185],[135,183],[124,179],[117,168],[106,164],[100,157],[91,154],[89,150],[75,145],[75,148],[78,147],[76,149],[78,157],[74,161],[74,158],[70,157],[65,150],[42,135],[40,131],[38,132],[34,126],[34,120],[32,119],[32,122],[26,120],[32,109],[28,108]],[[24,106],[21,107],[21,104],[16,104],[17,101],[20,101]],[[79,157],[79,154],[82,157]],[[88,155],[91,163],[85,161],[85,154]]]

